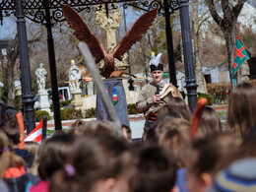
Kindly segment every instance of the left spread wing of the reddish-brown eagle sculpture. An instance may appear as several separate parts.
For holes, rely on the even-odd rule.
[[[96,63],[98,63],[107,54],[102,43],[69,5],[63,4],[62,10],[69,27],[75,31],[74,34],[79,40],[88,44],[93,56],[96,58]]]

